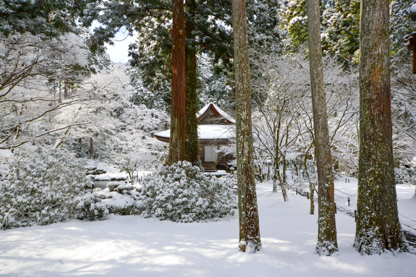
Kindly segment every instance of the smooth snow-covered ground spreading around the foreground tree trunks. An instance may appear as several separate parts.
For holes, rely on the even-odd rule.
[[[353,212],[357,181],[349,179],[336,181],[335,198],[338,208]],[[308,214],[309,200],[290,191],[284,203],[271,189],[271,182],[257,184],[263,249],[256,254],[238,251],[237,216],[174,223],[110,215],[0,232],[0,275],[416,276],[416,255],[360,256],[351,246],[354,218],[341,211],[336,214],[339,252],[314,254],[318,216]],[[409,218],[400,220],[416,233],[414,186],[399,185],[397,191],[399,213]]]

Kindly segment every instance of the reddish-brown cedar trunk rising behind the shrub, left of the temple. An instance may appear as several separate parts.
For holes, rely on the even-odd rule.
[[[183,0],[173,0],[172,13],[172,104],[169,164],[185,159],[185,14]]]

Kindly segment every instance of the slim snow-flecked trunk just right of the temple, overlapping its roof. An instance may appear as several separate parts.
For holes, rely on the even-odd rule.
[[[234,79],[236,82],[237,182],[239,198],[240,251],[262,248],[258,225],[254,179],[251,90],[248,64],[247,12],[245,0],[232,0]]]

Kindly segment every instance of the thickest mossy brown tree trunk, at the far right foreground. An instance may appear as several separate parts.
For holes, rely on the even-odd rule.
[[[393,165],[388,0],[362,0],[360,144],[354,247],[361,254],[407,251],[399,223]]]

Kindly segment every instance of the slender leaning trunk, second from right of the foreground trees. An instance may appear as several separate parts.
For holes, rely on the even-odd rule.
[[[328,121],[322,64],[319,0],[307,0],[310,87],[314,113],[315,152],[318,169],[318,242],[319,255],[338,250],[334,213],[334,183],[329,145]]]

